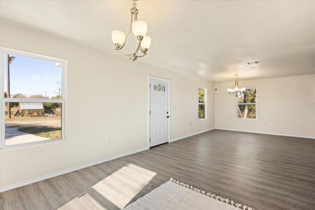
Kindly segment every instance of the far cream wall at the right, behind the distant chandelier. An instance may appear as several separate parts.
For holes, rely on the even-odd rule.
[[[237,119],[235,97],[226,91],[234,82],[216,83],[216,128],[315,138],[315,74],[241,80],[257,87],[257,120]]]

